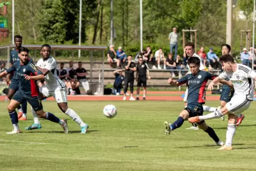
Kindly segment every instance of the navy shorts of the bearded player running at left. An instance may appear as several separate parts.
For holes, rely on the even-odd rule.
[[[20,104],[22,104],[25,101],[28,101],[28,103],[32,106],[32,108],[35,111],[42,110],[42,102],[41,102],[41,99],[40,99],[39,96],[28,97],[22,91],[18,90],[18,91],[15,92],[12,99],[16,100],[16,101],[19,101]]]

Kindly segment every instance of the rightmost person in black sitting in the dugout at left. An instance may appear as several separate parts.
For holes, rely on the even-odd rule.
[[[87,71],[82,67],[82,62],[78,62],[78,69],[75,70],[76,77],[78,78],[79,83],[83,86],[84,91],[90,90],[89,82],[86,78]]]

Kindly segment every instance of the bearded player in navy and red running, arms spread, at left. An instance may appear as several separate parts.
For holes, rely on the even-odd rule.
[[[68,127],[65,119],[59,119],[54,114],[44,112],[42,110],[42,103],[39,97],[39,91],[37,86],[37,80],[44,79],[44,75],[37,70],[36,66],[29,61],[29,50],[25,47],[19,48],[20,61],[17,61],[9,69],[2,72],[0,77],[11,73],[13,71],[19,75],[19,90],[13,95],[10,104],[7,109],[11,117],[14,130],[7,134],[21,133],[19,128],[18,115],[15,108],[22,104],[24,101],[28,101],[32,108],[36,111],[36,114],[40,118],[48,119],[49,121],[58,123],[64,129],[64,132],[68,132]]]

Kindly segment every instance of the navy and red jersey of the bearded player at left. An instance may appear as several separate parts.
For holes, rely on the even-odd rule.
[[[39,96],[39,90],[37,86],[37,81],[35,80],[25,80],[24,75],[39,75],[42,74],[41,71],[37,70],[35,64],[30,61],[27,64],[21,64],[16,62],[6,70],[7,73],[14,72],[19,78],[19,90],[22,91],[25,95],[30,97]]]

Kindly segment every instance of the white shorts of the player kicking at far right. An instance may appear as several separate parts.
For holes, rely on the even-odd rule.
[[[241,98],[240,96],[233,96],[231,98],[231,101],[226,104],[226,108],[230,113],[234,115],[239,115],[250,107],[251,102],[252,101],[246,98]]]

